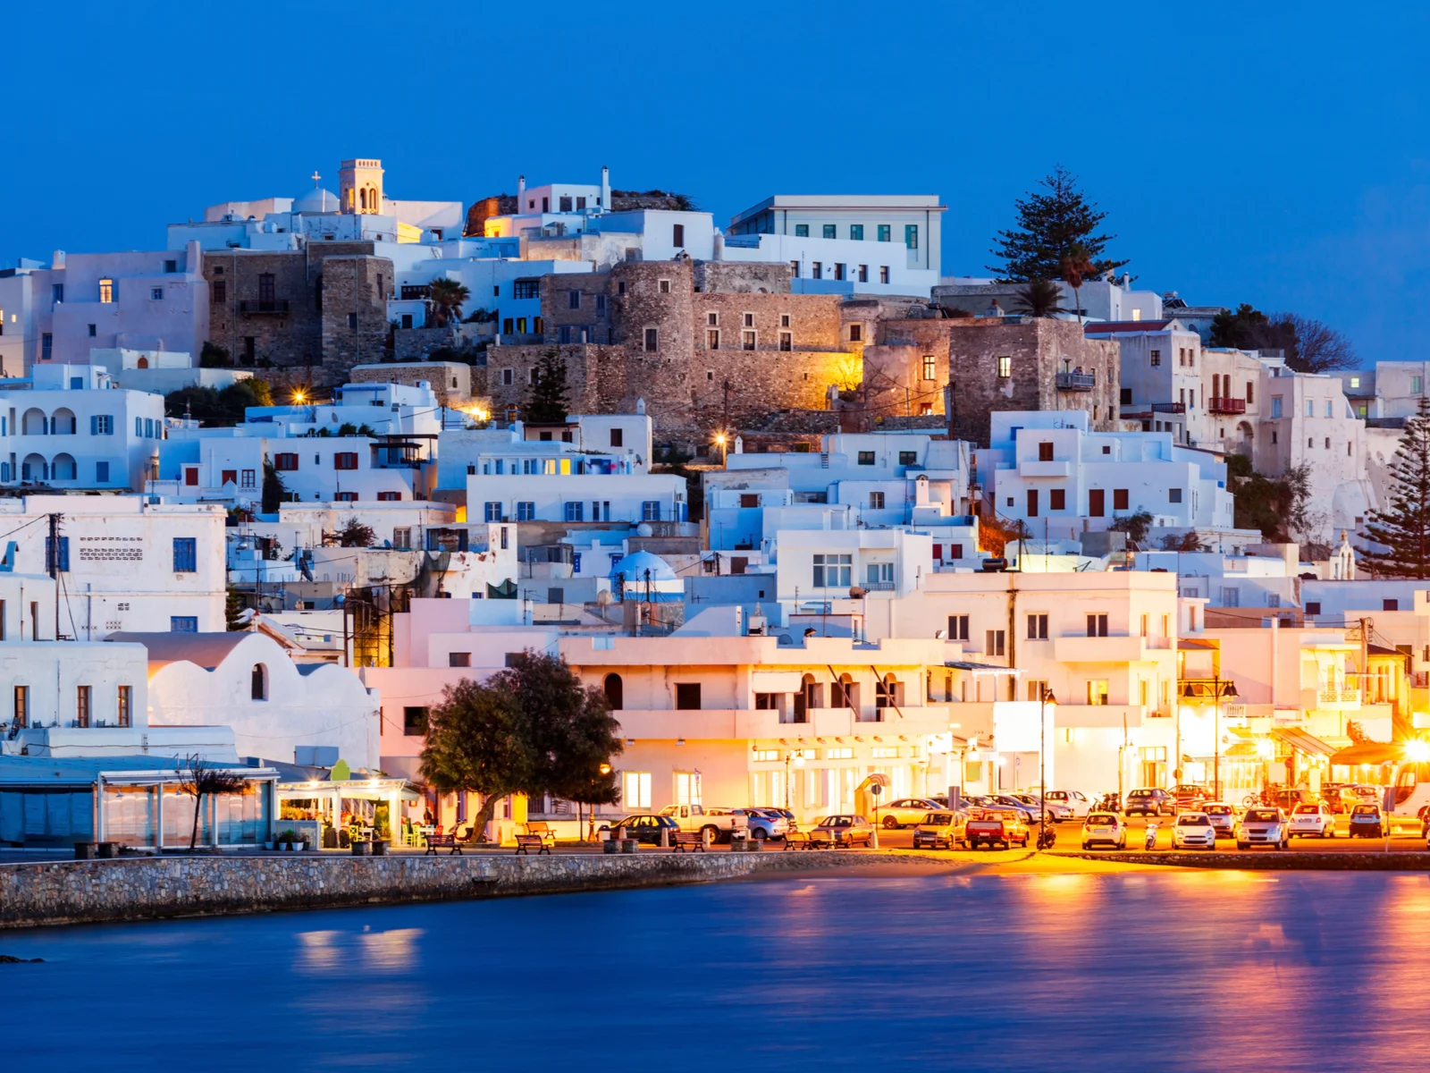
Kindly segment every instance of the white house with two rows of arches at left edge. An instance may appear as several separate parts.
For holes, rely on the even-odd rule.
[[[120,389],[100,366],[0,382],[0,485],[137,491],[163,436],[163,396]]]

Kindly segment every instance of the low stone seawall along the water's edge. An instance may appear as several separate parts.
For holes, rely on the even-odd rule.
[[[147,857],[0,867],[0,929],[709,883],[951,864],[879,851],[538,857]]]

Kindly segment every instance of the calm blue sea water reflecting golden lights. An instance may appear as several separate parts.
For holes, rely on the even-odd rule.
[[[1193,871],[0,933],[0,1067],[1424,1069],[1427,946],[1424,876]]]

